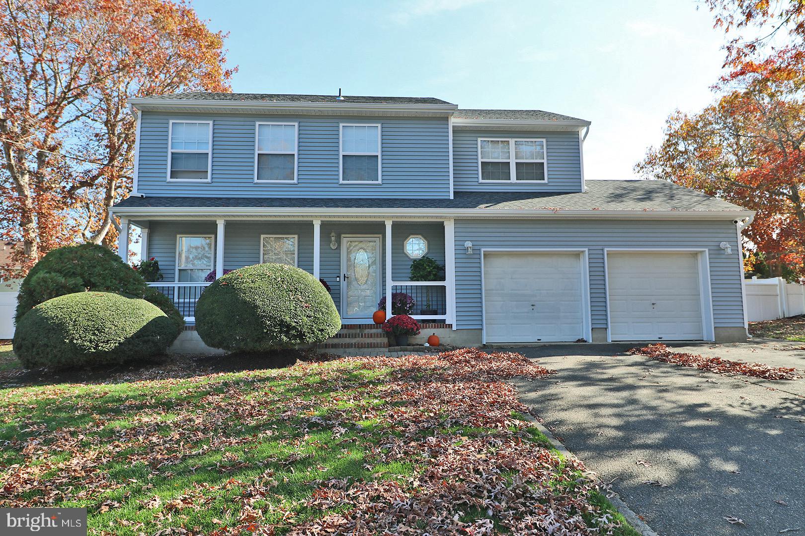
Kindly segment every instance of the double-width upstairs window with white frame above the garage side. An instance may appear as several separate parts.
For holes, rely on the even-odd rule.
[[[478,140],[480,182],[547,182],[545,140]]]

